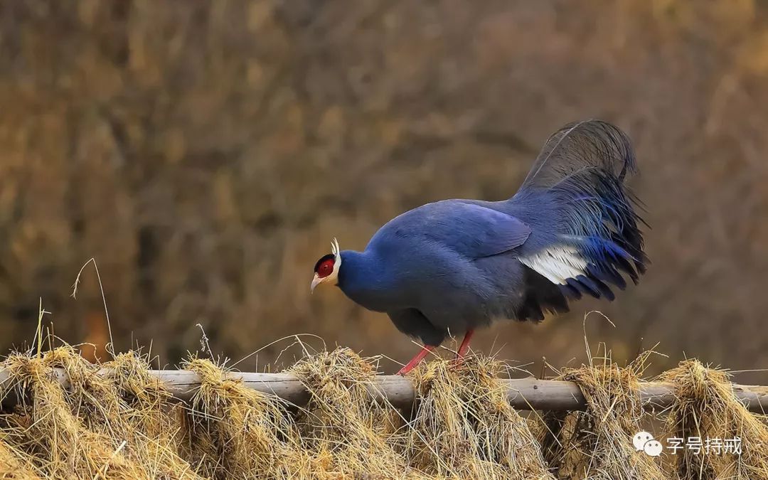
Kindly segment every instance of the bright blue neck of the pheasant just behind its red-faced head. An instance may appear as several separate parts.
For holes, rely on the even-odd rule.
[[[353,302],[369,310],[385,312],[392,307],[389,304],[392,283],[390,269],[382,264],[376,252],[341,252],[339,288]]]

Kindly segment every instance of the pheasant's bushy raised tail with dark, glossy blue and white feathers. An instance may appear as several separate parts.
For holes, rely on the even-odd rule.
[[[555,231],[521,262],[571,298],[614,300],[611,285],[627,285],[622,274],[637,283],[648,262],[638,227],[644,221],[624,185],[636,169],[630,140],[614,125],[581,121],[553,134],[515,197],[551,204]]]

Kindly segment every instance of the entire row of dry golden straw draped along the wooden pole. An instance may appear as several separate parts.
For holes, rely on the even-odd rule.
[[[677,388],[667,432],[738,436],[743,455],[635,451],[632,436],[654,419],[638,393],[648,355],[620,367],[606,353],[560,372],[581,386],[585,412],[521,416],[498,381],[505,366],[482,357],[415,370],[417,398],[402,411],[372,399],[376,362],[349,349],[289,370],[310,393],[302,408],[207,359],[182,365],[200,379],[184,403],[137,353],[101,365],[68,346],[15,353],[2,364],[15,406],[0,415],[0,478],[768,479],[764,417],[737,402],[724,372],[695,361],[661,377]]]

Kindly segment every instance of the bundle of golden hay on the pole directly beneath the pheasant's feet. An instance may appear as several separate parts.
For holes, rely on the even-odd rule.
[[[417,371],[409,453],[422,472],[451,478],[553,478],[541,446],[498,381],[502,364],[471,357]]]

